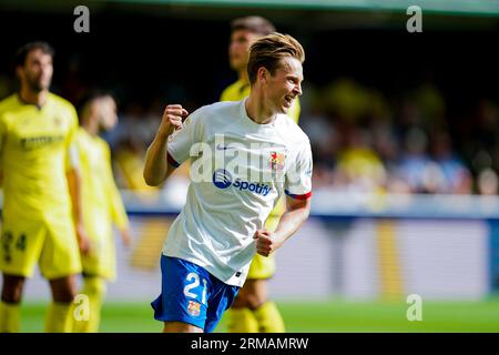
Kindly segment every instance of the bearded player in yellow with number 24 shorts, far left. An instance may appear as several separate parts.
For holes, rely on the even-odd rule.
[[[71,103],[49,92],[52,59],[48,43],[22,47],[16,57],[20,90],[0,102],[0,332],[20,331],[24,280],[37,263],[53,297],[45,331],[71,331],[79,246],[88,252],[73,142],[78,116]]]

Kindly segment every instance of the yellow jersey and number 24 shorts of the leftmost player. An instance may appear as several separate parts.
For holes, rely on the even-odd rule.
[[[42,106],[13,94],[0,102],[0,170],[3,223],[0,270],[49,280],[81,272],[65,176],[78,128],[71,103],[49,94]]]

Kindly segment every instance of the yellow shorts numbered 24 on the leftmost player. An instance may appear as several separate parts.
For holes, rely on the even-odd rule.
[[[4,219],[0,239],[0,271],[30,277],[38,262],[48,280],[81,272],[72,219],[58,215],[44,220]]]

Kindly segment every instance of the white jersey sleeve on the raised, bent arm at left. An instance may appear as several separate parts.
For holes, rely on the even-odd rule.
[[[167,139],[167,160],[173,166],[179,166],[190,158],[193,144],[201,142],[201,113],[194,111],[185,119],[180,130],[174,131]]]

